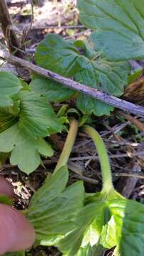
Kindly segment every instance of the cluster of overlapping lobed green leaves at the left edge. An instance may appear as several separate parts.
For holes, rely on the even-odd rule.
[[[2,71],[0,80],[0,152],[11,152],[11,164],[30,174],[39,166],[40,155],[53,154],[43,137],[60,132],[62,124],[48,100],[25,82]]]

